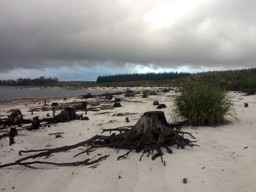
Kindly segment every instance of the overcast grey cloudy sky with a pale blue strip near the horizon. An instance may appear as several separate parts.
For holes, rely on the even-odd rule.
[[[255,0],[0,0],[0,79],[256,67]]]

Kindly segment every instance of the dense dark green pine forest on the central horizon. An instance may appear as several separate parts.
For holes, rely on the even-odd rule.
[[[177,79],[192,75],[188,72],[148,72],[145,74],[134,73],[134,74],[116,74],[116,75],[104,75],[98,76],[96,83],[111,83],[111,82],[127,82],[127,81],[138,81],[138,80],[167,80]]]

